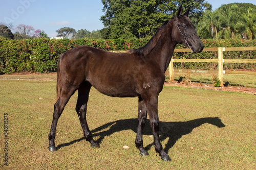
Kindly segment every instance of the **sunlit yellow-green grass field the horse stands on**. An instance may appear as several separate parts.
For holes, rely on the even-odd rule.
[[[99,149],[83,138],[75,93],[63,111],[57,152],[48,151],[55,81],[0,80],[0,169],[256,169],[256,96],[164,87],[159,96],[161,142],[172,161],[155,153],[149,123],[142,157],[135,147],[137,98],[111,98],[92,88],[88,124]],[[8,113],[5,152],[4,114]],[[124,145],[129,149],[123,149]]]

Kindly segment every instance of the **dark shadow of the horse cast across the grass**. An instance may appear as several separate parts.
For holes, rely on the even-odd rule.
[[[169,138],[164,150],[168,152],[170,148],[174,146],[177,140],[179,140],[183,135],[187,135],[193,131],[193,129],[203,125],[203,124],[211,124],[217,126],[218,128],[223,128],[225,125],[221,122],[219,117],[205,117],[198,118],[194,120],[189,120],[187,122],[160,122],[160,139],[161,141]],[[110,122],[108,124],[102,125],[94,130],[92,130],[93,136],[99,136],[97,139],[98,143],[104,139],[105,136],[110,136],[115,132],[123,131],[123,130],[133,130],[135,133],[137,132],[138,120],[136,118],[131,119],[122,119],[114,122]],[[103,131],[106,129],[105,131]],[[149,120],[147,120],[146,125],[143,129],[143,135],[152,135],[152,129],[150,127]],[[57,149],[62,147],[71,145],[75,142],[81,141],[85,139],[84,137],[73,140],[69,143],[63,143],[57,146]],[[152,138],[153,140],[153,138]],[[154,145],[154,142],[148,144],[145,149],[149,150]]]

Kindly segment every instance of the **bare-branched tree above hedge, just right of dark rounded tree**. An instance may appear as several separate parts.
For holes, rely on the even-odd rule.
[[[35,32],[32,26],[27,26],[24,24],[19,24],[15,27],[16,39],[28,39],[32,38],[33,33]]]

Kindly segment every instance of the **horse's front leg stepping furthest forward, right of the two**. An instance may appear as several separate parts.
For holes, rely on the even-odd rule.
[[[158,96],[151,96],[146,100],[146,109],[148,116],[150,117],[150,125],[154,135],[155,150],[160,154],[161,159],[164,161],[170,161],[170,157],[164,152],[159,137],[159,118],[158,118]]]

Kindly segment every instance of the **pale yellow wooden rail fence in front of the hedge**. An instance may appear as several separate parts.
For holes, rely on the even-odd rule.
[[[223,86],[223,75],[224,74],[248,74],[255,75],[256,72],[252,71],[225,71],[223,70],[223,63],[256,63],[254,59],[223,59],[223,52],[228,51],[256,51],[256,46],[249,47],[216,47],[216,48],[204,48],[203,52],[216,52],[218,51],[218,59],[172,59],[169,64],[169,74],[170,81],[174,81],[174,71],[183,72],[184,69],[174,69],[174,62],[212,62],[218,63],[218,78],[221,81],[221,86]],[[174,52],[190,52],[189,48],[179,48],[175,49]],[[201,72],[201,73],[213,73],[215,71],[211,70],[191,70],[191,72]]]

